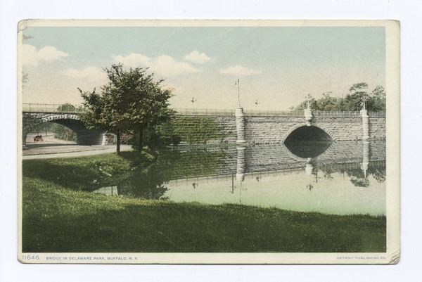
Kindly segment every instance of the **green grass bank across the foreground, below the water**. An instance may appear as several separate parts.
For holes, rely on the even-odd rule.
[[[102,161],[108,172],[134,164],[78,159],[51,164],[55,174],[69,163],[89,171]],[[24,161],[23,252],[385,252],[385,217],[103,196],[75,190],[77,176],[58,181],[27,169]]]

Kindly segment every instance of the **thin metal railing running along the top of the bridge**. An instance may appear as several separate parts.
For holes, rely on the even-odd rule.
[[[83,105],[63,105],[63,104],[37,104],[23,103],[23,112],[35,113],[82,113]],[[194,108],[175,108],[176,115],[208,115],[208,116],[230,116],[235,115],[234,109],[194,109]],[[303,117],[303,110],[245,110],[244,115],[251,116],[279,116],[279,117]],[[313,110],[314,117],[360,117],[358,111],[322,111]],[[385,112],[368,112],[369,117],[385,117]]]

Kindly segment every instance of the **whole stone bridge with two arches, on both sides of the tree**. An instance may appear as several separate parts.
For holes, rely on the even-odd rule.
[[[103,133],[84,127],[80,113],[58,110],[58,105],[40,108],[37,104],[23,106],[23,136],[38,124],[56,122],[77,134],[77,143],[95,145],[104,143]],[[79,108],[80,109],[80,108]],[[178,117],[186,117],[178,124],[179,132],[198,132],[198,118],[218,124],[218,134],[207,137],[207,143],[271,144],[312,140],[367,140],[385,139],[385,113],[302,111],[245,111],[235,110],[177,110]],[[181,140],[186,141],[186,140]]]

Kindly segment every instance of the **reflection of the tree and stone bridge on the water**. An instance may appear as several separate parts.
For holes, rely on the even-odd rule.
[[[300,148],[300,143],[296,143],[295,148],[302,153],[309,151],[314,152],[314,155],[319,153],[315,157],[305,155],[307,158],[300,156],[296,158],[292,155],[294,150],[288,153],[290,148],[282,144],[246,146],[243,150],[235,146],[212,149],[184,148],[184,150],[179,147],[163,151],[153,165],[108,177],[97,187],[117,186],[120,196],[166,200],[169,181],[177,179],[191,179],[186,182],[187,185],[198,190],[200,187],[196,179],[201,177],[218,178],[224,175],[236,175],[237,178],[237,175],[274,170],[289,173],[289,169],[299,168],[304,168],[306,177],[309,177],[309,182],[306,184],[309,191],[314,191],[318,186],[316,185],[318,179],[333,179],[331,174],[335,173],[347,175],[355,187],[371,186],[370,175],[378,183],[385,181],[385,158],[383,159],[382,155],[381,158],[376,158],[376,161],[371,160],[371,150],[367,147],[363,150],[362,143],[357,141],[336,143],[334,148],[330,148],[331,144],[325,141],[305,142],[307,148],[304,149]],[[330,153],[325,153],[327,148],[330,148]],[[346,148],[348,150],[344,153]],[[376,151],[378,150],[377,147]],[[366,157],[362,155],[364,153],[367,154]],[[239,161],[243,165],[239,166]],[[260,184],[260,180],[260,177],[254,177],[257,185]]]

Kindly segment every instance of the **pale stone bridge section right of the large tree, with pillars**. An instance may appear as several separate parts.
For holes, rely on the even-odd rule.
[[[236,110],[179,110],[184,117],[184,135],[198,130],[195,118],[208,117],[219,127],[219,134],[207,143],[274,144],[286,141],[350,141],[385,139],[385,113],[302,111],[258,112]]]

